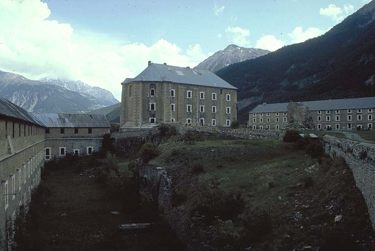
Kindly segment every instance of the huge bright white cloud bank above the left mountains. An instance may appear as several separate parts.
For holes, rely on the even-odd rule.
[[[194,67],[207,54],[199,44],[182,51],[160,39],[151,46],[126,43],[102,34],[77,32],[70,24],[46,20],[47,3],[0,0],[1,70],[31,79],[60,77],[82,80],[121,98],[120,83],[147,67],[147,61]]]

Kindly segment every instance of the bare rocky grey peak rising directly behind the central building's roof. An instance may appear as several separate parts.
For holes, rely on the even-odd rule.
[[[216,73],[220,69],[248,59],[254,59],[270,53],[269,50],[245,48],[237,45],[228,45],[224,50],[216,51],[199,65],[194,67],[198,70],[208,70]]]

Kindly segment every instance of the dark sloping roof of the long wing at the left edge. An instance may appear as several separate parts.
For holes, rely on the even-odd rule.
[[[1,115],[17,120],[22,120],[31,124],[44,126],[43,123],[35,118],[35,116],[30,112],[2,97],[0,97],[0,116]]]

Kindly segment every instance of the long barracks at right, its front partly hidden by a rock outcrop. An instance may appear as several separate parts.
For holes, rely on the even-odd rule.
[[[259,104],[249,113],[253,129],[283,129],[290,121],[289,103]],[[341,100],[306,101],[315,129],[374,129],[375,97]]]

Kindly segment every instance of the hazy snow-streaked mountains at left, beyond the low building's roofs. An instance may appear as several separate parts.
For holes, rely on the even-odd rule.
[[[60,82],[65,83],[66,87],[58,84]],[[0,71],[0,95],[28,111],[42,113],[83,113],[118,102],[104,89],[90,88],[80,82],[85,88],[75,91],[78,86],[74,84],[76,81],[60,82],[52,79],[31,80],[22,75]]]

